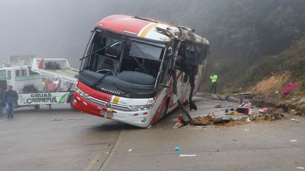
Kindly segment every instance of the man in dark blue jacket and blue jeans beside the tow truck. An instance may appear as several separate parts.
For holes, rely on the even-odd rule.
[[[15,102],[18,100],[19,95],[18,93],[13,90],[13,86],[9,85],[9,89],[4,91],[3,95],[3,103],[6,103],[6,110],[7,110],[7,118],[13,118],[14,109],[15,109]]]

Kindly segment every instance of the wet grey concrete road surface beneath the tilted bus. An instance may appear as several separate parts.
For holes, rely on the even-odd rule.
[[[198,110],[189,112],[192,117],[209,112],[227,117],[225,106],[237,106],[201,98],[195,103]],[[218,104],[224,108],[213,108]],[[0,170],[236,171],[305,167],[305,117],[284,113],[289,117],[277,121],[174,129],[179,114],[179,109],[174,110],[152,127],[138,128],[73,111],[69,104],[53,105],[51,110],[47,106],[39,110],[19,108],[13,119],[0,116]],[[175,151],[175,147],[181,150]],[[197,156],[179,157],[181,154]]]

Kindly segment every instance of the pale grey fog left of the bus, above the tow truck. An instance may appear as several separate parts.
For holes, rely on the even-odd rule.
[[[72,67],[78,68],[89,30],[112,13],[115,11],[104,1],[2,1],[0,60],[36,54],[39,58],[67,58]]]

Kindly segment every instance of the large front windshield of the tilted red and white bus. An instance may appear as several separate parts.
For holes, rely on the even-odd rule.
[[[94,89],[100,91],[99,88],[108,90],[111,87],[116,89],[113,90],[115,92],[123,91],[123,94],[154,92],[166,44],[135,38],[120,41],[123,38],[121,35],[95,30],[84,56],[97,52],[82,60],[79,79],[94,87],[96,81],[108,73]]]

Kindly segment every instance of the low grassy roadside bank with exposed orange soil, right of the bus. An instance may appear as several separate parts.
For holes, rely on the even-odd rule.
[[[305,95],[305,38],[280,54],[257,60],[221,58],[221,54],[226,53],[214,53],[208,59],[201,86],[202,92],[209,92],[209,76],[216,72],[219,78],[218,94],[246,91],[273,94],[275,91],[283,92],[289,82],[297,82],[299,85],[289,94]]]

